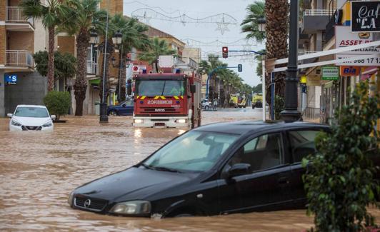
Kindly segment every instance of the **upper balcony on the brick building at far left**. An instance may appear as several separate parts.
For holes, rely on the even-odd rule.
[[[26,18],[21,7],[6,6],[6,30],[34,31],[34,19]]]

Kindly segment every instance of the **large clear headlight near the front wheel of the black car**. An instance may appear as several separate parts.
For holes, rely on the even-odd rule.
[[[126,201],[116,203],[109,212],[126,215],[151,213],[151,203],[149,201]]]

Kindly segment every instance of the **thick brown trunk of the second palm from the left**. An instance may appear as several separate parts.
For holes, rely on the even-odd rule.
[[[87,90],[87,47],[89,46],[89,34],[86,30],[81,30],[76,37],[76,80],[74,84],[75,94],[75,116],[83,116],[83,101],[86,99]]]

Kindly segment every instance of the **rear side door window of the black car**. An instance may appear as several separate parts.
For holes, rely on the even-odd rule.
[[[314,140],[318,133],[319,131],[289,131],[294,163],[301,162],[302,158],[316,152]]]

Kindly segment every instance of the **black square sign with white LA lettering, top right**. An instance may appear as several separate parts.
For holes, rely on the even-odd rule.
[[[351,1],[351,31],[380,31],[380,1]]]

